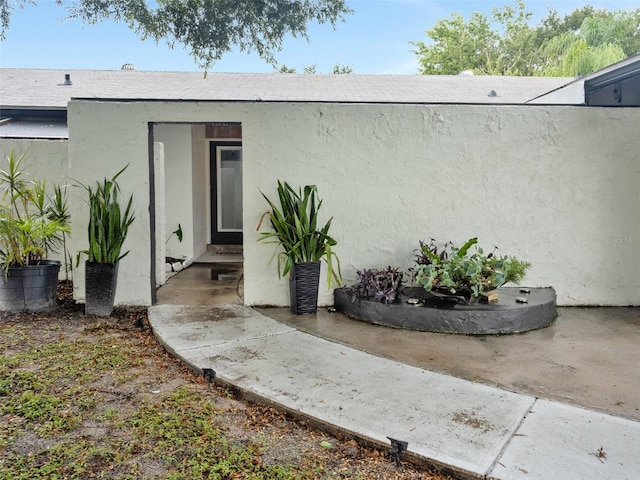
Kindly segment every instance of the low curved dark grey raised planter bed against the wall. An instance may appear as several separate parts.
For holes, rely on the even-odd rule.
[[[421,288],[407,288],[390,305],[356,299],[346,288],[334,292],[338,311],[365,322],[426,332],[491,335],[521,333],[546,327],[556,318],[556,293],[552,288],[532,288],[524,294],[519,288],[498,289],[493,304],[452,305],[431,303],[410,305],[409,298],[425,298]],[[525,297],[527,303],[517,303]]]

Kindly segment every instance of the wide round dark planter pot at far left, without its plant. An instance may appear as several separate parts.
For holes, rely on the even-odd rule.
[[[0,271],[0,309],[39,312],[55,307],[58,272],[57,260]]]

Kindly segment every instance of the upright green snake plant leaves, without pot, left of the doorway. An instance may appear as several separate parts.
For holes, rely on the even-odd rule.
[[[118,177],[125,166],[113,178],[105,178],[95,187],[85,186],[89,196],[89,248],[82,253],[89,262],[117,263],[129,252],[122,253],[122,245],[127,238],[129,226],[133,223],[133,195],[129,197],[124,211],[120,205]]]

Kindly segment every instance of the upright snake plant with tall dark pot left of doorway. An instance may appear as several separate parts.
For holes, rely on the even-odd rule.
[[[122,245],[133,223],[133,195],[124,211],[120,205],[120,186],[117,179],[125,171],[105,178],[94,187],[84,186],[89,197],[89,248],[85,262],[85,314],[108,317],[113,311],[118,264],[129,252],[122,253]]]

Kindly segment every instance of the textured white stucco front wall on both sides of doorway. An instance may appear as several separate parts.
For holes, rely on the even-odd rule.
[[[242,123],[248,305],[289,303],[286,279],[267,264],[272,248],[255,231],[259,191],[274,195],[278,179],[318,185],[346,283],[360,268],[409,267],[420,239],[477,236],[531,261],[527,285],[555,287],[560,304],[640,304],[639,120],[638,109],[560,106],[72,101],[69,109],[75,176],[131,162],[121,183],[136,191],[127,242],[136,255],[124,260],[116,301],[138,304],[150,301],[147,122],[162,121]],[[322,288],[320,302],[331,301]]]

